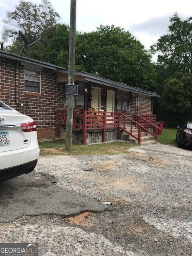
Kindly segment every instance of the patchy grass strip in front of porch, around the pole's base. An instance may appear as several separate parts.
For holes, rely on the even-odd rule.
[[[39,142],[40,156],[47,155],[114,155],[127,153],[132,146],[138,146],[129,142],[110,142],[92,145],[72,144],[72,151],[65,150],[64,140],[52,140]]]

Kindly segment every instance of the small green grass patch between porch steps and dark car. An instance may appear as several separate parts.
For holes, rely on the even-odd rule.
[[[166,144],[170,146],[176,146],[175,137],[177,129],[173,128],[163,128],[162,134],[158,136],[158,142],[161,144]]]

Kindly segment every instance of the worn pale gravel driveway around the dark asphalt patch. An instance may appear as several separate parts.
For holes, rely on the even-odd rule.
[[[0,242],[38,242],[42,256],[190,256],[191,157],[190,149],[161,144],[114,156],[42,156],[30,175],[111,205],[1,223]]]

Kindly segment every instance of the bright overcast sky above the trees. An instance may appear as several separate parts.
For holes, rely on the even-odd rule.
[[[40,4],[41,0],[31,0]],[[60,15],[61,24],[70,23],[70,0],[50,0]],[[168,33],[169,19],[175,12],[183,20],[192,16],[192,0],[76,0],[76,30],[96,31],[100,25],[118,26],[129,31],[148,50],[160,36]],[[2,20],[8,11],[19,6],[19,0],[0,0],[0,42]],[[18,29],[19,30],[19,29]]]

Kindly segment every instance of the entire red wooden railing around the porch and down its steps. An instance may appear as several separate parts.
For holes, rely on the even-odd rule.
[[[122,124],[120,124],[120,118]],[[138,122],[130,117],[122,114],[121,112],[100,112],[100,111],[84,111],[74,110],[73,112],[73,129],[82,130],[82,144],[86,144],[87,131],[102,130],[102,142],[106,142],[106,129],[117,128],[117,139],[120,140],[120,130],[123,130],[141,143],[141,132],[144,130],[146,133],[151,134],[157,140],[158,130],[160,128],[146,120],[140,115],[136,115]],[[60,137],[60,127],[66,128],[67,111],[56,110],[56,137]],[[127,123],[130,123],[130,132],[126,130]],[[145,124],[145,127],[142,126]],[[138,128],[138,136],[132,133],[133,126]],[[148,127],[153,127],[153,132],[147,130]]]

